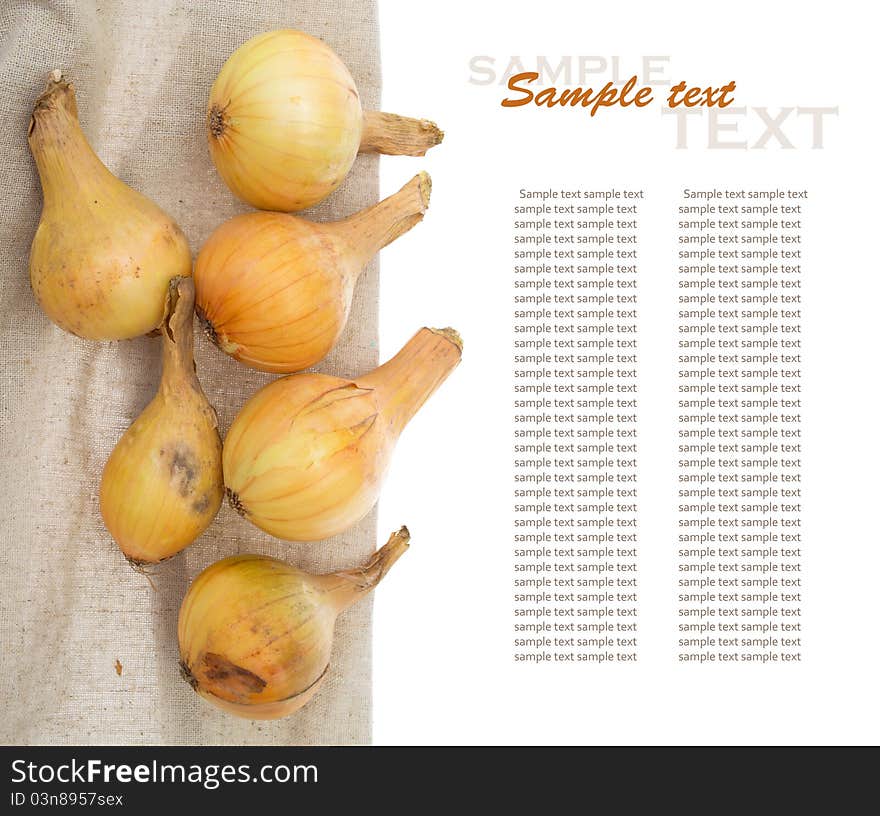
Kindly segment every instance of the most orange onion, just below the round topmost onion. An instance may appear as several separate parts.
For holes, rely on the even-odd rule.
[[[218,227],[195,265],[197,311],[208,337],[236,360],[279,374],[333,348],[369,259],[424,217],[431,179],[330,224],[286,213],[239,215]]]

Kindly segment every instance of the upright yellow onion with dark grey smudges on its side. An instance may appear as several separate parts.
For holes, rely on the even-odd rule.
[[[168,287],[162,381],[101,477],[101,515],[133,564],[170,558],[201,535],[223,502],[217,415],[193,362],[192,278]]]

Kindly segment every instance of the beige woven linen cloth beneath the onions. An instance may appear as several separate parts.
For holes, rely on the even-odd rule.
[[[41,196],[26,132],[47,73],[77,91],[83,130],[110,170],[172,217],[195,254],[246,211],[205,141],[208,91],[225,59],[255,34],[298,28],[325,40],[379,102],[376,9],[368,0],[0,0],[0,742],[4,744],[350,744],[370,741],[370,602],[340,618],[328,680],[280,721],[250,722],[205,703],[177,668],[176,621],[205,566],[259,552],[326,571],[360,563],[376,543],[368,517],[315,544],[267,536],[224,505],[188,550],[155,570],[128,566],[101,522],[98,485],[117,439],[152,398],[156,338],[80,340],[42,314],[28,254]],[[313,215],[374,203],[377,160],[360,157]],[[350,376],[377,362],[378,267],[361,278],[342,342],[321,369]],[[225,433],[271,377],[202,337],[198,372]],[[122,666],[121,675],[114,666]]]

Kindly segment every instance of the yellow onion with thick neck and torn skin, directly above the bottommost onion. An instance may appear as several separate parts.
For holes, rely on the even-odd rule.
[[[230,504],[289,541],[348,529],[375,504],[400,432],[460,359],[453,329],[420,329],[362,377],[295,374],[265,386],[226,436]]]

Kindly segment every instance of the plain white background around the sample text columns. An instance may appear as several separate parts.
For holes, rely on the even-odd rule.
[[[813,11],[813,9],[816,9]],[[434,178],[423,224],[382,253],[382,357],[452,325],[464,360],[404,432],[380,537],[412,548],[375,598],[378,744],[876,742],[877,160],[874,26],[855,3],[380,3],[383,109],[435,119],[424,159],[382,160],[383,194]],[[826,149],[675,150],[643,110],[502,109],[470,84],[494,55],[668,55],[667,77],[737,82],[737,105],[839,105]],[[528,65],[527,67],[531,67]],[[601,79],[604,84],[607,78]],[[662,89],[655,96],[662,98]],[[797,120],[792,117],[790,122]],[[753,143],[763,130],[746,120]],[[788,123],[787,123],[788,124]],[[735,137],[734,137],[735,138]],[[675,206],[684,186],[807,187],[805,662],[676,664]],[[640,276],[640,662],[514,665],[511,221],[520,187],[644,187]]]

